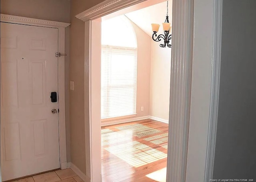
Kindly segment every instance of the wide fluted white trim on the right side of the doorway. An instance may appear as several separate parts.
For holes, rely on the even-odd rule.
[[[185,182],[190,115],[193,0],[172,1],[168,182]]]

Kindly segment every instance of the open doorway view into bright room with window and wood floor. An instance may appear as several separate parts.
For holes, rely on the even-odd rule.
[[[152,40],[150,24],[164,21],[165,8],[158,1],[101,18],[103,182],[166,180],[171,49]]]

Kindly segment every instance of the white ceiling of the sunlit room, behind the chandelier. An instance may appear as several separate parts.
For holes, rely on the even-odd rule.
[[[134,12],[126,13],[125,16],[134,22],[138,27],[152,36],[151,23],[160,24],[159,32],[163,32],[162,23],[166,18],[166,1],[148,6]],[[172,0],[168,1],[169,22],[172,25]]]

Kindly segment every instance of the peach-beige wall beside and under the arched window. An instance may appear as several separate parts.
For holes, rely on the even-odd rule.
[[[151,37],[148,36],[140,27],[130,21],[134,28],[137,38],[138,52],[137,52],[137,95],[136,95],[136,116],[148,116],[150,111],[150,50]],[[144,111],[141,111],[141,107]],[[135,118],[129,117],[129,119]],[[120,120],[120,119],[118,119]],[[115,121],[115,120],[111,120]],[[108,121],[102,121],[106,123]]]

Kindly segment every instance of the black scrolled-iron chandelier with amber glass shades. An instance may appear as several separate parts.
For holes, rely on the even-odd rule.
[[[172,47],[172,45],[170,44],[170,40],[172,39],[172,34],[169,35],[169,33],[171,33],[171,29],[172,27],[170,26],[171,23],[169,23],[169,16],[168,16],[168,0],[167,0],[167,14],[166,14],[166,19],[165,22],[162,23],[163,24],[163,29],[164,29],[164,35],[160,34],[160,35],[156,35],[156,33],[159,30],[160,25],[159,24],[155,24],[152,23],[152,31],[153,31],[153,35],[152,35],[152,39],[156,42],[159,42],[161,40],[164,40],[163,44],[160,44],[160,47]]]

